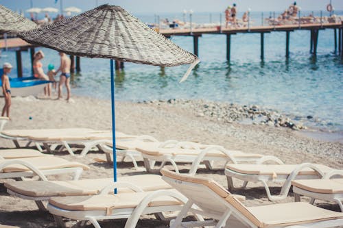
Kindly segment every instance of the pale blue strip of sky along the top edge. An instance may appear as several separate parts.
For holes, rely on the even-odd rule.
[[[27,10],[31,7],[62,8],[76,6],[83,11],[91,10],[98,5],[109,3],[111,5],[120,5],[132,14],[158,14],[168,12],[182,12],[183,10],[193,10],[196,12],[222,12],[228,5],[237,4],[238,10],[246,11],[250,8],[252,11],[281,11],[293,3],[292,0],[0,0],[1,5],[12,10]],[[325,10],[330,0],[298,0],[298,6],[302,10]],[[343,10],[343,0],[331,0],[335,10]]]

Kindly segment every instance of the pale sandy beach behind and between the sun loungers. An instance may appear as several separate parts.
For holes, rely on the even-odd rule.
[[[0,100],[0,106],[3,99]],[[91,127],[94,129],[111,129],[110,102],[86,97],[73,97],[66,101],[35,99],[33,97],[12,99],[12,121],[5,129],[59,128],[59,127]],[[332,168],[343,168],[342,142],[327,142],[307,138],[300,131],[287,127],[269,125],[244,125],[237,122],[228,123],[218,118],[209,118],[194,112],[191,108],[177,103],[131,103],[116,102],[116,129],[126,134],[146,134],[158,140],[188,140],[205,144],[219,144],[227,149],[241,150],[247,153],[274,155],[286,164],[311,162],[324,164]],[[1,148],[12,148],[10,140],[0,140]],[[78,152],[76,152],[78,153]],[[82,178],[112,177],[110,164],[95,162],[95,158],[104,159],[104,153],[92,151],[86,157],[72,157],[67,151],[56,153],[70,161],[78,161],[91,167],[82,174]],[[139,162],[143,166],[143,162]],[[218,164],[220,165],[220,164]],[[146,173],[145,170],[134,170],[132,163],[118,164],[119,176]],[[181,166],[181,172],[187,172],[187,165]],[[171,168],[171,166],[167,166]],[[223,170],[200,169],[199,176],[209,177],[227,186]],[[69,177],[50,177],[50,179]],[[1,182],[12,181],[2,179]],[[39,212],[33,201],[11,197],[1,183],[0,191],[0,224],[19,227],[56,227],[54,218],[48,212]],[[235,181],[235,183],[240,183]],[[265,191],[258,183],[250,183],[252,188],[234,192],[246,195],[245,205],[261,205],[270,202]],[[279,188],[272,188],[276,194]],[[291,193],[281,202],[294,201]],[[304,198],[303,201],[308,201]],[[320,207],[339,211],[338,205],[318,201]],[[125,220],[104,222],[103,227],[123,227]],[[68,225],[73,223],[68,222]],[[89,226],[92,227],[92,226]],[[138,227],[168,227],[167,222],[155,220],[154,216],[146,216],[140,220]]]

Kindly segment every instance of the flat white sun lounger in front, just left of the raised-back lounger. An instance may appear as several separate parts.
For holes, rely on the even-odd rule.
[[[100,228],[98,220],[128,218],[125,228],[136,227],[143,214],[163,214],[182,209],[186,198],[176,190],[156,190],[108,194],[113,188],[121,188],[120,183],[113,183],[111,188],[100,194],[78,197],[53,197],[49,199],[47,210],[54,214],[58,225],[63,225],[62,218],[80,220],[83,225],[90,221],[95,228]]]

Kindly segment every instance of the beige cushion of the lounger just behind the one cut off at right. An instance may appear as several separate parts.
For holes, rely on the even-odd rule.
[[[299,165],[296,164],[228,164],[226,165],[226,169],[245,175],[272,175],[273,177],[276,177],[277,175],[289,175],[298,166]],[[328,166],[324,165],[316,164],[316,167],[324,173],[332,170]],[[298,175],[317,175],[317,172],[311,168],[303,168],[303,170],[300,170]]]

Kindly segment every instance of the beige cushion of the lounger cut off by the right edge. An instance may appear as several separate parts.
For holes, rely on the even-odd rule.
[[[292,185],[310,192],[342,194],[343,179],[303,179],[292,181]]]

